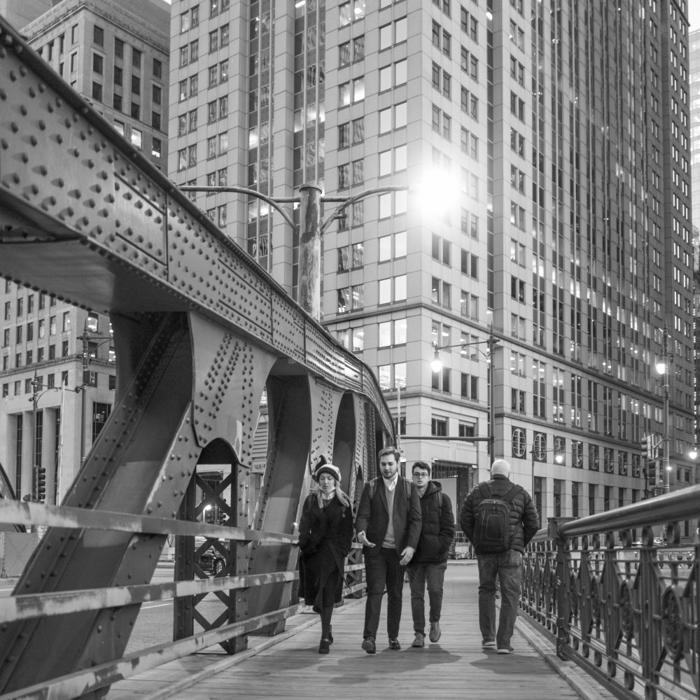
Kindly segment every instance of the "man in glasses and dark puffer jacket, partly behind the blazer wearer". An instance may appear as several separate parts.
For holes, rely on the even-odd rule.
[[[413,487],[421,498],[423,528],[416,552],[406,572],[411,586],[411,612],[416,638],[412,647],[426,645],[426,584],[430,603],[431,642],[440,639],[440,612],[442,584],[447,570],[449,545],[454,539],[454,515],[449,496],[442,493],[442,484],[430,478],[432,470],[427,462],[414,462],[411,468]]]

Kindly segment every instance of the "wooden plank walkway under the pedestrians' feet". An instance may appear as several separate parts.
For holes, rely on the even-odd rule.
[[[545,638],[519,621],[510,656],[482,650],[478,624],[477,567],[451,562],[442,605],[442,638],[411,648],[413,625],[406,584],[400,652],[386,646],[386,599],[377,654],[360,649],[365,601],[351,601],[333,615],[335,643],[318,654],[318,615],[297,615],[286,639],[250,638],[258,647],[225,657],[195,654],[113,686],[108,700],[218,700],[233,698],[400,698],[401,700],[610,700],[573,662],[556,659]],[[426,596],[427,598],[427,596]],[[427,600],[426,600],[427,606]],[[260,648],[262,647],[266,648]],[[243,660],[243,657],[246,657]],[[202,678],[206,675],[206,678]],[[567,680],[568,679],[568,680]],[[179,690],[178,690],[179,689]]]

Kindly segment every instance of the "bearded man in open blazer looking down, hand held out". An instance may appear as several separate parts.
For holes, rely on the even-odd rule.
[[[381,477],[365,484],[357,509],[355,529],[363,545],[367,601],[362,648],[377,652],[381,597],[386,587],[386,631],[389,649],[398,651],[404,567],[411,561],[421,534],[421,502],[418,490],[399,470],[395,447],[379,450]]]

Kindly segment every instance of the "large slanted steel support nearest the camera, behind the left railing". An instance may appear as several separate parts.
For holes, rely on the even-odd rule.
[[[65,505],[174,517],[196,458],[189,429],[190,339],[182,314],[166,315],[156,328]],[[129,342],[127,335],[118,334],[117,343]],[[50,528],[15,594],[147,583],[163,542],[165,535]],[[8,691],[117,658],[138,610],[139,605],[125,605],[3,626],[0,687]],[[57,639],[60,654],[55,653]]]

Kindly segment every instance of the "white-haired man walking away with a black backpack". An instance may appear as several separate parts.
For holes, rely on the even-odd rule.
[[[522,583],[522,554],[540,527],[535,504],[527,491],[513,484],[510,464],[496,459],[491,479],[469,493],[459,523],[477,554],[479,565],[479,627],[484,649],[512,654],[510,645],[518,614]],[[500,582],[500,618],[496,630],[496,577]]]

